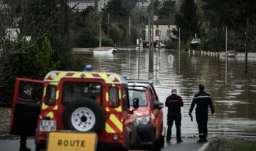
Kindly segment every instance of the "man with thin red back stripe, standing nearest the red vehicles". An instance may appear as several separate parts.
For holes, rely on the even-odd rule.
[[[171,127],[174,124],[176,125],[176,140],[177,142],[182,142],[181,140],[181,107],[183,107],[183,100],[181,96],[177,95],[177,90],[172,89],[171,95],[166,98],[165,102],[166,107],[168,107],[167,113],[167,136],[166,142],[171,140]]]

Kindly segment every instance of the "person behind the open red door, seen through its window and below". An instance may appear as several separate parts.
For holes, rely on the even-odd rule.
[[[31,97],[31,91],[32,91],[31,85],[25,85],[23,87],[23,92],[18,94],[18,101],[25,102],[25,103],[32,103],[33,100]],[[28,138],[27,135],[25,135],[25,134],[21,135],[20,151],[30,151],[31,150],[26,146],[27,138]]]

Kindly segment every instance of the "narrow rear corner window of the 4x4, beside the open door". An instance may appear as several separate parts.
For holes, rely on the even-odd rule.
[[[55,95],[56,95],[56,86],[48,85],[46,88],[46,105],[54,105],[55,104]]]

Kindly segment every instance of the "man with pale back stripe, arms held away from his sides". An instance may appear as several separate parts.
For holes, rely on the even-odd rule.
[[[196,122],[198,124],[199,138],[197,142],[208,142],[206,139],[208,130],[208,106],[210,106],[211,114],[214,115],[214,106],[210,94],[204,91],[204,85],[199,85],[199,92],[194,95],[191,108],[189,109],[189,115],[192,114],[193,108],[196,105]]]

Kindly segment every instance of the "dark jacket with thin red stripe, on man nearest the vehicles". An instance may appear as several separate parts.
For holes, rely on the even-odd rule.
[[[168,113],[181,113],[181,106],[183,106],[183,100],[179,95],[172,94],[166,98],[166,107],[168,107]]]

